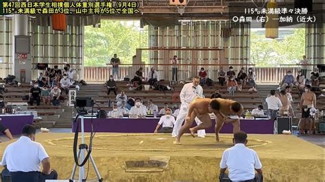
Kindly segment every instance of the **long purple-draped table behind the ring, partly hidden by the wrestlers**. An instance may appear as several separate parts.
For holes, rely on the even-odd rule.
[[[84,118],[84,131],[115,132],[115,133],[153,133],[159,118]],[[80,119],[78,121],[80,123]],[[73,122],[72,131],[76,131],[77,122]],[[215,133],[215,120],[213,125],[206,129],[206,133]],[[195,122],[193,122],[195,123]],[[194,126],[195,124],[193,124]],[[79,125],[79,131],[81,130]],[[241,130],[246,133],[273,134],[274,120],[241,120]],[[225,123],[220,133],[232,133],[232,125]]]

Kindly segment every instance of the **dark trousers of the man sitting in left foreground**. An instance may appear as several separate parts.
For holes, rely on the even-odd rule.
[[[9,172],[7,168],[3,169],[2,181],[11,182],[45,182],[47,179],[58,179],[58,172],[53,170],[51,174],[43,174],[43,172]],[[11,179],[11,180],[10,180]]]

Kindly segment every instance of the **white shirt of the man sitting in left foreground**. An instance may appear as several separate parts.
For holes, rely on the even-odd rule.
[[[7,165],[10,172],[40,171],[40,164],[47,157],[49,155],[40,143],[21,136],[19,140],[5,148],[1,166]]]

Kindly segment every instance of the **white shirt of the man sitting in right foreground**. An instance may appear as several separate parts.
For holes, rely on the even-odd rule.
[[[244,144],[235,144],[222,154],[220,168],[228,168],[231,181],[254,179],[255,169],[261,169],[262,164],[255,151]]]

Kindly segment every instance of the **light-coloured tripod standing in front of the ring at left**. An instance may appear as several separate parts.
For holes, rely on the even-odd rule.
[[[84,114],[80,114],[80,122],[81,122],[81,129],[82,129],[82,144],[79,145],[79,151],[78,151],[78,161],[82,162],[84,161],[84,152],[88,153],[88,146],[84,143]],[[77,132],[77,131],[76,131]],[[99,182],[102,182],[103,179],[100,177],[99,171],[97,169],[97,166],[95,164],[95,160],[93,159],[93,156],[89,155],[89,159],[91,159],[91,164],[93,165],[93,168],[96,172],[97,180]],[[70,182],[73,182],[73,178],[75,177],[75,171],[77,170],[77,164],[74,164],[71,178],[69,179]],[[85,171],[84,166],[79,167],[79,182],[86,181],[85,179]]]

